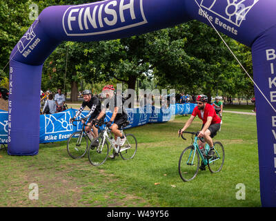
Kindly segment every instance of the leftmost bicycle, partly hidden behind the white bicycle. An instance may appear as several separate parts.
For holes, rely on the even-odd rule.
[[[86,119],[83,118],[74,119],[72,125],[77,126],[74,124],[74,122],[81,122],[81,120],[86,121]],[[86,155],[86,152],[88,150],[88,140],[90,140],[90,142],[94,140],[94,137],[92,140],[90,139],[90,137],[88,137],[88,133],[85,130],[86,126],[87,124],[82,124],[81,131],[72,133],[72,135],[70,135],[70,137],[67,140],[67,152],[70,155],[70,157],[74,159],[78,159]]]

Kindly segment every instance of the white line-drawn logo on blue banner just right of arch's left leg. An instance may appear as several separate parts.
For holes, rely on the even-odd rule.
[[[57,116],[57,118],[55,117]],[[44,115],[45,133],[68,132],[73,130],[72,124],[69,123],[70,112],[56,113],[55,115]]]

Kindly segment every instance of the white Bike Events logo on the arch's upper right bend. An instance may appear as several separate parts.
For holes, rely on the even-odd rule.
[[[199,15],[208,17],[212,23],[237,35],[235,26],[240,27],[246,15],[259,0],[201,0]],[[208,13],[216,15],[214,18]],[[234,26],[228,25],[232,23]]]

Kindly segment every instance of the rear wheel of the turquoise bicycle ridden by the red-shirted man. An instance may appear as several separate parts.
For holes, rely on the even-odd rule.
[[[221,142],[214,142],[214,148],[215,155],[208,159],[208,168],[211,173],[217,173],[221,171],[222,166],[224,166],[225,158],[224,146],[221,144]]]

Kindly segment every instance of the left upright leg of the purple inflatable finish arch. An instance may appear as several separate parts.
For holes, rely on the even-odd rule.
[[[41,66],[10,61],[8,154],[37,155]]]

